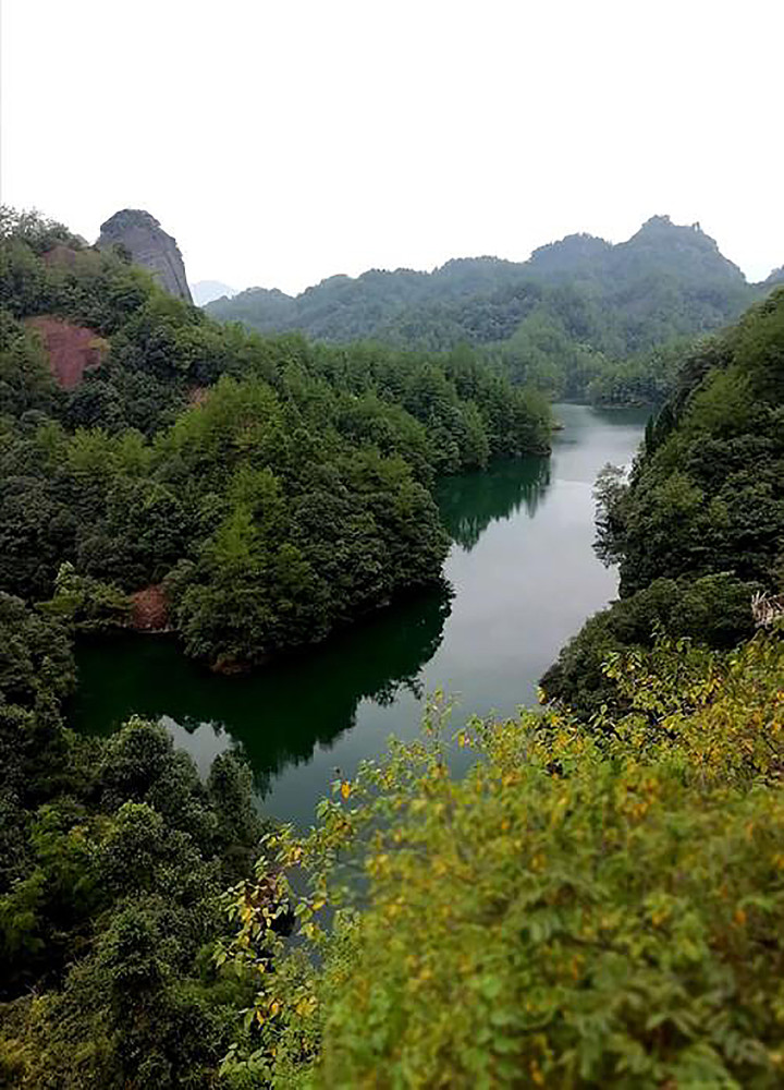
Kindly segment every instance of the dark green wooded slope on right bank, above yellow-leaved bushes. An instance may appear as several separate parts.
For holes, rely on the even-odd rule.
[[[543,686],[581,712],[607,655],[654,632],[720,649],[750,634],[755,593],[784,590],[784,291],[686,355],[630,480],[599,481],[600,554],[621,601],[591,618]]]

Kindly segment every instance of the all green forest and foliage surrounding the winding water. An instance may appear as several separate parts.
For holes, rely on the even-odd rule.
[[[306,328],[0,228],[0,1087],[781,1086],[784,289],[657,218],[523,286],[454,263],[457,301],[326,281],[347,324],[311,289]],[[456,726],[434,694],[307,832],[240,755],[73,729],[76,642],[152,592],[232,674],[439,585],[438,481],[547,455],[555,393],[663,404],[597,482],[618,598],[539,711]]]

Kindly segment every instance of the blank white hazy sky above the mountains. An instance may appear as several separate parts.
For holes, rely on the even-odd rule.
[[[654,213],[784,263],[783,0],[1,0],[2,201],[193,282],[524,259]]]

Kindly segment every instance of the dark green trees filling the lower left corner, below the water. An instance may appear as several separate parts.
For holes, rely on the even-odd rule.
[[[252,992],[216,969],[261,826],[250,773],[201,783],[166,730],[63,725],[61,622],[0,594],[0,1086],[207,1087]]]

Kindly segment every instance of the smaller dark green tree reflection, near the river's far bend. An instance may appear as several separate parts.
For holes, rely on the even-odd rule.
[[[442,481],[441,518],[454,541],[470,550],[491,522],[515,514],[524,505],[532,517],[549,485],[549,458],[494,462],[485,473],[462,473]]]

